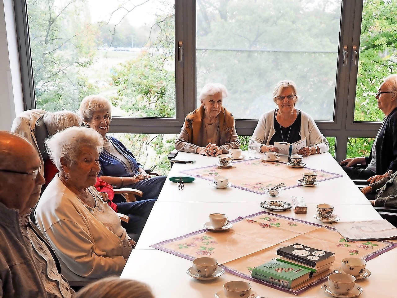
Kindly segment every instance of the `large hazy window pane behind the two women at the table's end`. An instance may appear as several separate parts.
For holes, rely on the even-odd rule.
[[[223,83],[229,111],[258,119],[290,79],[298,108],[333,120],[340,16],[340,0],[197,0],[197,90]]]

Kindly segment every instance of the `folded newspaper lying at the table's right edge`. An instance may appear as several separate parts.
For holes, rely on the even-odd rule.
[[[335,222],[332,225],[347,241],[397,238],[397,229],[387,220]]]

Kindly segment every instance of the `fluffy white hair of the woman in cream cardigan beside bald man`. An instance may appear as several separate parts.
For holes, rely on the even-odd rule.
[[[103,138],[94,129],[88,127],[72,126],[62,132],[57,132],[52,138],[45,140],[48,155],[54,162],[58,171],[62,171],[61,157],[74,164],[77,160],[79,149],[85,145],[95,148],[98,153],[103,150]]]

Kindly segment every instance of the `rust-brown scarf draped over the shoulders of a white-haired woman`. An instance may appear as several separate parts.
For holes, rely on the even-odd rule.
[[[221,143],[217,144],[222,146],[224,143],[229,143],[231,133],[234,127],[234,117],[224,107],[221,108],[220,113],[216,116],[219,119],[219,131]],[[185,127],[189,135],[188,143],[197,144],[200,128],[204,122],[204,106],[200,106],[193,112],[187,114],[185,118]],[[205,124],[204,124],[205,125]]]

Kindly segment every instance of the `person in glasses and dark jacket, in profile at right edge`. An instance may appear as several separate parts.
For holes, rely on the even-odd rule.
[[[397,75],[384,79],[375,97],[385,118],[372,144],[369,157],[342,160],[343,170],[351,179],[374,183],[397,171]],[[366,168],[356,168],[357,164]]]

